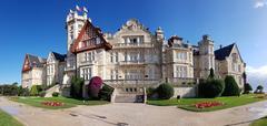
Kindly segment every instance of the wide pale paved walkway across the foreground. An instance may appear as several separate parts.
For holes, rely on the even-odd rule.
[[[267,102],[208,113],[131,103],[50,111],[0,97],[0,108],[27,126],[248,126],[267,115]]]

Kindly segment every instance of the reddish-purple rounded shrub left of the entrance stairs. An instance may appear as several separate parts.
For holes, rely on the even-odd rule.
[[[99,76],[95,76],[90,80],[90,83],[88,85],[88,90],[89,90],[89,97],[90,98],[99,98],[98,94],[101,90],[101,85],[102,85],[102,78]]]

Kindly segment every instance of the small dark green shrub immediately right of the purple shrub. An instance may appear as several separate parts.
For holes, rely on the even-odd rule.
[[[110,101],[112,93],[113,93],[113,87],[105,84],[105,85],[102,86],[102,88],[100,90],[98,96],[99,96],[99,98],[102,99],[102,101]]]

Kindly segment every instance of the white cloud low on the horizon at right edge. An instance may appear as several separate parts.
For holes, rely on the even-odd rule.
[[[261,84],[267,91],[267,65],[260,67],[247,66],[246,73],[248,77],[248,83],[255,88],[257,85]]]

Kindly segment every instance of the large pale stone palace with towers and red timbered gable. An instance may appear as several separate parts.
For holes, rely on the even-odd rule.
[[[89,84],[92,76],[116,88],[119,94],[140,94],[146,87],[164,82],[174,84],[176,95],[196,96],[199,78],[210,69],[219,78],[233,75],[244,86],[246,64],[236,43],[215,50],[209,35],[197,45],[178,35],[166,39],[164,30],[151,32],[136,19],[130,19],[113,34],[103,33],[87,17],[87,11],[71,10],[66,20],[67,52],[50,52],[47,59],[26,54],[21,84],[60,85],[69,87],[72,76]],[[86,96],[86,93],[85,93]],[[120,101],[118,98],[118,101]]]

